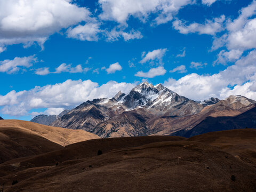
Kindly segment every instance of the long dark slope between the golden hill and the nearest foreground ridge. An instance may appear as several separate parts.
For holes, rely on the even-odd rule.
[[[29,169],[30,167],[52,166],[56,163],[61,163],[72,159],[97,156],[99,150],[101,150],[102,153],[107,153],[113,149],[138,147],[152,142],[181,140],[185,140],[185,138],[177,136],[145,136],[87,140],[74,143],[60,150],[55,150],[49,153],[35,156],[13,159],[11,161],[0,164],[0,177],[2,175],[10,174],[13,171],[22,171],[24,169]],[[12,164],[19,164],[19,167],[14,167],[13,170]]]

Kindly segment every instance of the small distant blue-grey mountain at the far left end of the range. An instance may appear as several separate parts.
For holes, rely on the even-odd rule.
[[[68,113],[68,111],[70,110],[63,110],[59,115],[38,115],[31,119],[30,122],[51,125],[53,122],[57,121],[57,119]]]

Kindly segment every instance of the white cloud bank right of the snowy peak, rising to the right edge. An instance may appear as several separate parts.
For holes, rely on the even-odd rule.
[[[224,99],[229,94],[241,94],[256,100],[256,51],[242,57],[232,66],[213,75],[189,74],[178,80],[169,78],[164,85],[194,100],[210,97]],[[242,69],[242,70],[241,70]],[[234,88],[232,88],[234,86]]]

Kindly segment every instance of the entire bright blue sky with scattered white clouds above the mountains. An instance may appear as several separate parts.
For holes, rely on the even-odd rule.
[[[0,2],[0,116],[30,120],[148,81],[256,100],[256,1]]]

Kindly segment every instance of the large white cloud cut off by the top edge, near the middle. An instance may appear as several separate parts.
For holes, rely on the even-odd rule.
[[[185,5],[193,3],[191,0],[99,0],[102,20],[114,20],[125,23],[130,16],[145,22],[150,13],[157,13],[156,25],[172,20],[173,15]]]

